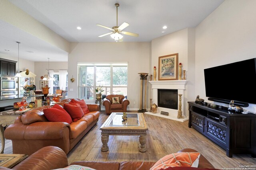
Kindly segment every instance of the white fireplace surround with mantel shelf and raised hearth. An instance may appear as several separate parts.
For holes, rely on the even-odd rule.
[[[178,94],[182,94],[182,113],[184,113],[184,90],[186,90],[186,83],[188,80],[162,80],[162,81],[149,81],[150,84],[152,84],[152,103],[158,104],[158,89],[176,89],[178,90]],[[169,113],[169,116],[161,115],[161,111],[166,111]],[[158,107],[157,113],[152,112],[145,112],[149,115],[154,115],[158,117],[164,117],[167,119],[172,119],[176,121],[184,122],[188,120],[188,118],[185,115],[182,115],[184,119],[178,119],[178,110],[176,109],[169,109],[164,107]]]

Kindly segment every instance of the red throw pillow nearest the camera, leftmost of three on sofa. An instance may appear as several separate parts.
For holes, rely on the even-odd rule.
[[[68,124],[72,123],[72,119],[71,119],[70,115],[64,109],[61,110],[61,109],[54,108],[54,107],[49,108],[49,109],[44,109],[44,115],[48,119],[48,121],[66,122]]]

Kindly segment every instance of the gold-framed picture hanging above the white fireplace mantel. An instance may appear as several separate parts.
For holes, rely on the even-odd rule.
[[[158,80],[178,80],[178,53],[158,57]]]

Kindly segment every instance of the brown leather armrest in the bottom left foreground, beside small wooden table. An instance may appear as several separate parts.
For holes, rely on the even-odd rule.
[[[13,170],[50,170],[68,166],[68,158],[59,147],[44,147],[12,168]]]

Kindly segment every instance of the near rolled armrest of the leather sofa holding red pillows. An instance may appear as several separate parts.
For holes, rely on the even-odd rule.
[[[71,139],[70,125],[65,122],[35,122],[29,125],[14,123],[9,125],[4,131],[4,137],[11,140],[54,140],[63,139],[64,130],[69,129],[69,139]]]

